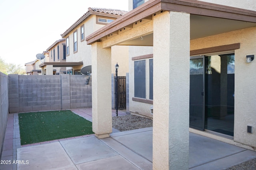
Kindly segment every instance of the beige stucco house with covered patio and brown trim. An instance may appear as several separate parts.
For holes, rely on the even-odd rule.
[[[188,169],[189,132],[255,150],[255,35],[254,0],[141,1],[86,37],[95,135],[112,132],[111,53],[129,45],[130,112],[153,117],[154,170]]]

